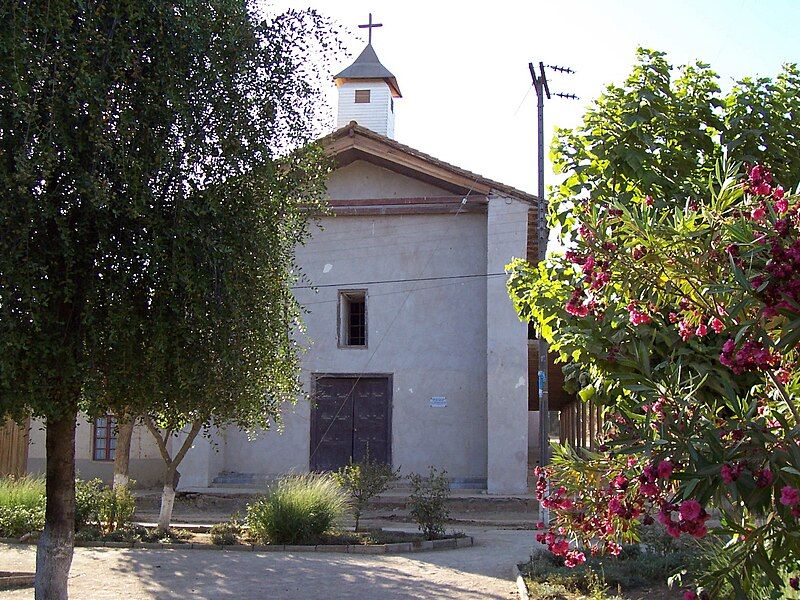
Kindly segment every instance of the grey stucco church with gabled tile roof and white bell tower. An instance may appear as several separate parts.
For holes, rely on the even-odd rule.
[[[526,492],[535,343],[504,267],[535,256],[537,198],[398,142],[400,86],[371,41],[335,83],[330,213],[297,249],[308,400],[285,409],[281,432],[198,438],[180,488],[263,484],[369,452],[404,474],[444,469],[454,488]],[[79,473],[110,479],[110,419],[78,430]],[[30,435],[28,470],[42,471],[44,435]],[[137,427],[131,476],[153,485],[161,472]]]

